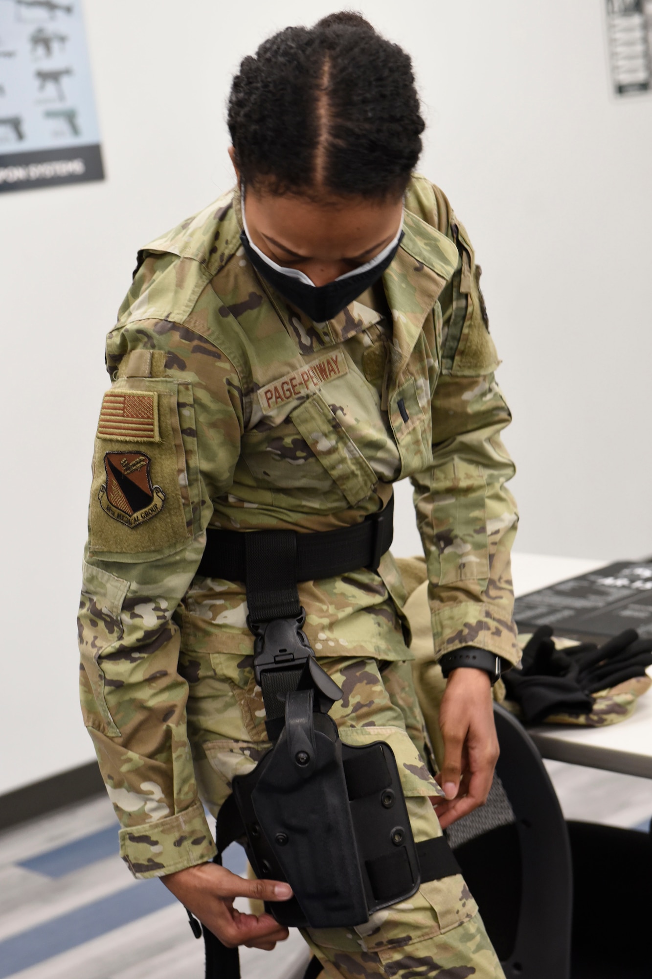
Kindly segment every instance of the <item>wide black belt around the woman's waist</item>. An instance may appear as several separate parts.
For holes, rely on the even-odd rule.
[[[334,578],[359,568],[378,570],[380,559],[392,546],[394,536],[394,496],[384,510],[355,527],[341,531],[295,534],[294,531],[217,531],[209,528],[204,557],[198,574],[227,582],[246,582],[251,568],[246,539],[268,534],[292,535],[297,540],[296,582]],[[265,549],[264,555],[268,551]],[[278,559],[271,553],[271,566]]]

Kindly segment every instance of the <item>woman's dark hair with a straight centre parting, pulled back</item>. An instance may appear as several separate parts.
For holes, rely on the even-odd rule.
[[[245,183],[276,194],[403,193],[424,121],[412,63],[358,14],[286,27],[233,79],[228,126]]]

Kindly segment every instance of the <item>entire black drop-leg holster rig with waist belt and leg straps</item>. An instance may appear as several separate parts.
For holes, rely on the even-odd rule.
[[[207,545],[209,557],[200,566],[200,574],[247,583],[254,671],[273,742],[256,769],[233,779],[233,793],[217,817],[216,860],[238,840],[257,877],[287,881],[294,897],[265,906],[286,926],[363,924],[375,911],[411,897],[422,879],[460,872],[444,837],[415,844],[390,746],[376,741],[351,747],[340,740],[328,712],[342,690],[319,666],[303,632],[297,582],[376,570],[391,543],[392,507],[381,516],[384,526],[377,519],[345,532],[233,534],[226,558],[223,541],[229,543],[232,532],[215,532],[219,557]],[[358,532],[355,540],[350,531]],[[333,539],[344,535],[346,547],[344,539]],[[317,551],[321,547],[317,567],[309,552],[298,554],[315,540]],[[210,969],[218,961],[224,979],[239,975],[226,967],[234,950],[204,931],[207,977],[217,974]],[[218,949],[225,956],[217,956]]]

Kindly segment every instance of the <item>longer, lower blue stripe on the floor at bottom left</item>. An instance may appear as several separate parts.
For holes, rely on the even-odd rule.
[[[160,880],[143,880],[0,942],[0,979],[61,955],[145,914],[177,904]],[[179,905],[179,914],[185,915]]]

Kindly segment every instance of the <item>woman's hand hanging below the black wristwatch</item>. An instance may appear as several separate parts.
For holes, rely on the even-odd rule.
[[[498,738],[493,721],[489,676],[463,667],[448,676],[440,710],[443,765],[437,775],[445,799],[431,802],[442,829],[487,802],[493,769],[498,761]]]

